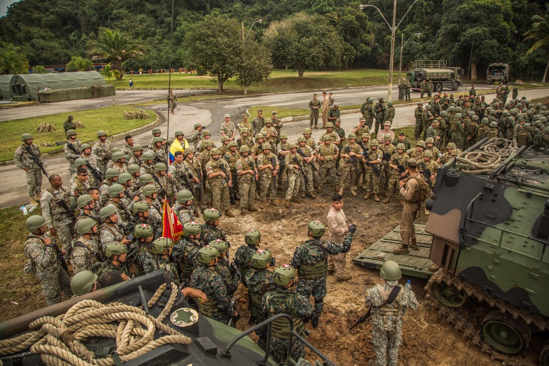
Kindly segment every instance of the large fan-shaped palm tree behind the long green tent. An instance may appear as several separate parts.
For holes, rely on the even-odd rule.
[[[139,57],[143,54],[142,48],[119,30],[103,29],[99,31],[97,41],[93,43],[90,51],[92,60],[107,60],[113,65],[113,69],[120,71],[121,79],[124,75],[122,62],[131,57]]]

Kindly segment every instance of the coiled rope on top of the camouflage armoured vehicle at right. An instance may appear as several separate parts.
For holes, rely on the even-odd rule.
[[[459,170],[468,174],[490,174],[518,149],[517,141],[492,137],[478,150],[462,152],[456,157]]]

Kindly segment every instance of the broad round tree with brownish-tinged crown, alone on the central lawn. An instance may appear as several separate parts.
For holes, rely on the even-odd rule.
[[[306,69],[341,65],[343,40],[324,16],[298,13],[269,25],[264,35],[277,65],[291,66],[303,78]]]

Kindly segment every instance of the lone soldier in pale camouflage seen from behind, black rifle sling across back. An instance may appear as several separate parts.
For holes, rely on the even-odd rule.
[[[366,306],[372,310],[372,345],[376,353],[376,362],[370,359],[368,365],[396,365],[406,309],[416,310],[419,304],[412,290],[399,285],[402,274],[398,263],[387,260],[379,276],[385,283],[366,291]]]

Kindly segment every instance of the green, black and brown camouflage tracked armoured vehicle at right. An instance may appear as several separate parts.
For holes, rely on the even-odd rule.
[[[512,360],[549,329],[549,154],[521,147],[488,174],[460,171],[471,167],[438,169],[425,231],[440,269],[425,290],[465,337]],[[549,364],[549,341],[540,361]]]

